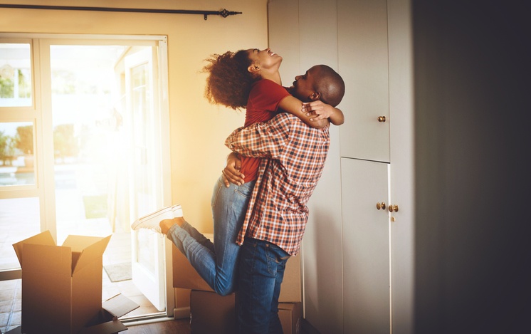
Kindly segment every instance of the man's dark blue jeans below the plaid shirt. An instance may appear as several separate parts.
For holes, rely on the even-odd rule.
[[[245,239],[238,277],[238,333],[283,333],[278,318],[278,296],[289,257],[268,241]]]

